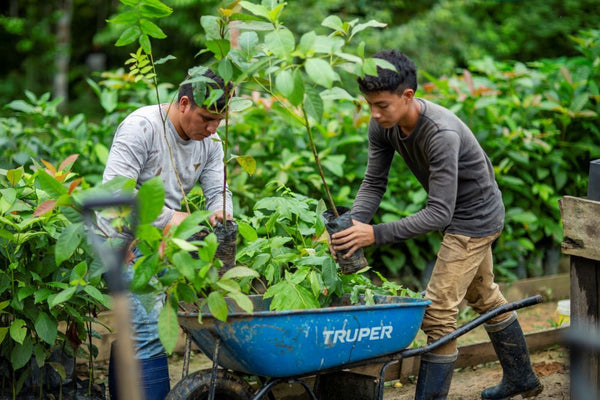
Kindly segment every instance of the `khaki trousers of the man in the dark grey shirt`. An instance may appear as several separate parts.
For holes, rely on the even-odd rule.
[[[506,303],[494,282],[492,243],[498,236],[500,232],[482,238],[444,235],[425,291],[425,297],[432,301],[421,325],[428,343],[456,330],[458,306],[463,299],[479,314]],[[510,316],[510,313],[500,314],[487,323],[499,323]],[[456,340],[432,351],[436,354],[455,352]]]

